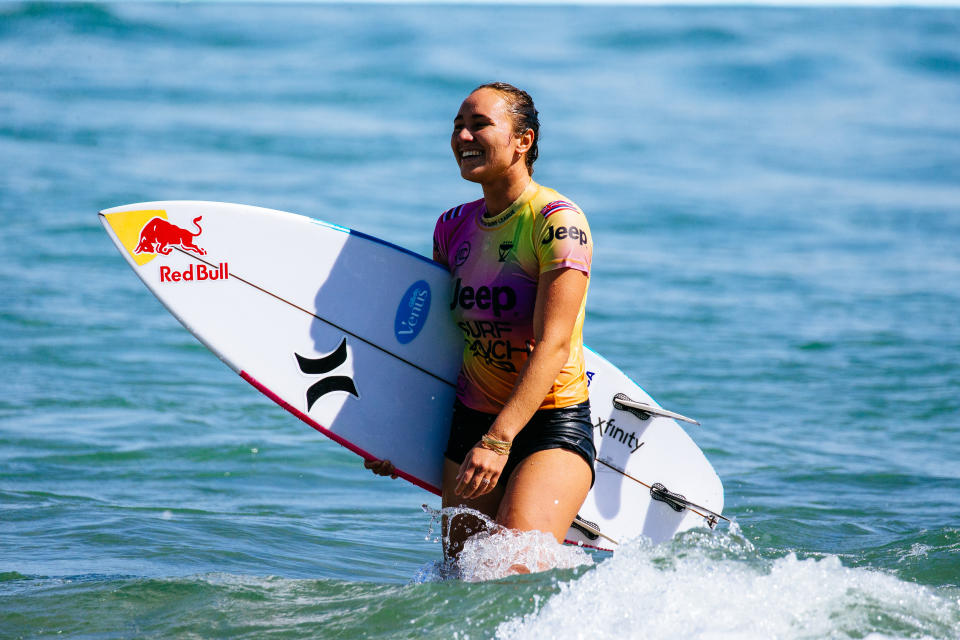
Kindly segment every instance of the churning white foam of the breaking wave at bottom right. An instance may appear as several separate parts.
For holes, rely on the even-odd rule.
[[[960,601],[835,556],[759,556],[736,534],[627,542],[497,638],[960,637]]]

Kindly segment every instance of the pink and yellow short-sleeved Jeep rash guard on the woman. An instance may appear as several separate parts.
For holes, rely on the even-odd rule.
[[[433,253],[450,269],[450,310],[465,340],[457,399],[471,409],[499,413],[534,342],[540,274],[571,268],[589,275],[593,238],[577,205],[533,181],[496,217],[483,217],[485,211],[481,199],[440,216]],[[541,409],[587,400],[585,308],[586,297],[573,329],[570,357]]]

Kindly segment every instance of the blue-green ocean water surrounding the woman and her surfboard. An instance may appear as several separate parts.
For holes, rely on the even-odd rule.
[[[589,215],[587,343],[702,421],[733,526],[441,579],[438,500],[98,223],[223,200],[427,253],[495,79]],[[960,637],[957,114],[956,9],[0,4],[0,637]]]

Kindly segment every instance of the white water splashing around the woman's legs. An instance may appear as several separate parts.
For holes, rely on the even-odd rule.
[[[434,537],[442,528],[443,518],[470,515],[482,523],[477,533],[463,545],[463,551],[455,561],[438,562],[421,569],[415,582],[431,582],[457,578],[466,582],[498,580],[521,573],[535,573],[549,569],[572,569],[592,565],[593,559],[579,547],[560,544],[549,533],[542,531],[516,531],[503,527],[479,511],[466,507],[447,507],[435,510],[423,505],[430,514],[427,539],[444,542]]]

